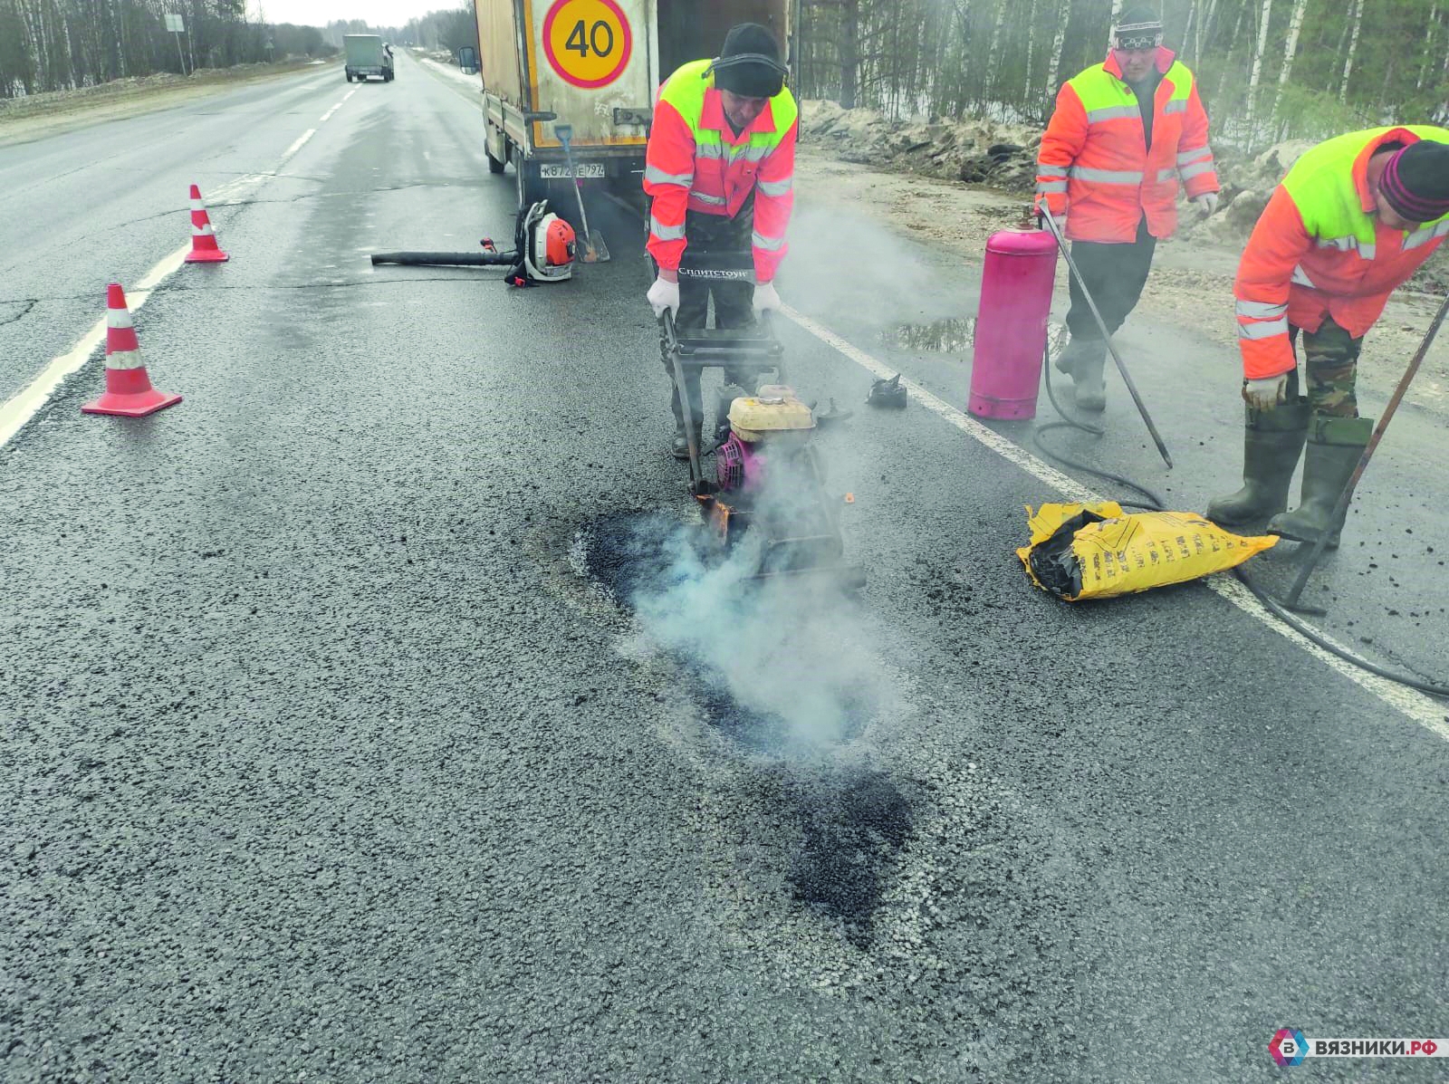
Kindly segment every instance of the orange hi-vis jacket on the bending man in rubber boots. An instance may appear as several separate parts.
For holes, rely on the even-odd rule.
[[[1368,159],[1385,143],[1449,143],[1430,125],[1349,132],[1306,152],[1264,209],[1237,264],[1237,345],[1243,372],[1264,380],[1297,364],[1288,325],[1316,332],[1327,317],[1355,339],[1388,296],[1449,235],[1449,214],[1419,229],[1378,222]]]

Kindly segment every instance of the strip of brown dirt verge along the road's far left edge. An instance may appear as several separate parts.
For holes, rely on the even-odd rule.
[[[141,75],[96,87],[58,90],[22,99],[0,100],[0,146],[45,139],[87,125],[152,113],[223,90],[291,75],[326,71],[339,61],[285,61],[241,64],[235,68],[200,68],[191,75]]]

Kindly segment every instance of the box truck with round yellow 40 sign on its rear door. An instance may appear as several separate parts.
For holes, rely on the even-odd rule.
[[[719,55],[735,23],[772,29],[788,55],[800,0],[474,0],[488,170],[511,162],[519,207],[551,181],[588,184],[643,172],[659,84]]]

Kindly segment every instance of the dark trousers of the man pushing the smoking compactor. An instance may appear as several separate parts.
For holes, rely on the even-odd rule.
[[[743,259],[752,259],[752,239],[755,233],[755,200],[753,196],[745,200],[739,214],[727,219],[723,214],[701,214],[688,212],[684,217],[684,238],[688,249],[696,252],[739,252]],[[687,249],[687,251],[688,251]],[[680,278],[680,312],[674,326],[680,332],[696,330],[707,325],[710,299],[714,299],[714,326],[749,328],[755,323],[755,287],[751,283],[736,281],[700,281],[697,278]],[[665,359],[665,371],[674,380],[674,370]],[[729,384],[739,384],[745,391],[755,391],[756,374],[753,370],[724,367],[724,380]],[[690,414],[694,417],[694,432],[703,432],[703,404],[700,401],[698,370],[685,371],[684,383],[690,396]],[[669,397],[669,409],[674,412],[675,426],[682,426],[680,413],[680,399]],[[719,423],[719,419],[716,419]]]

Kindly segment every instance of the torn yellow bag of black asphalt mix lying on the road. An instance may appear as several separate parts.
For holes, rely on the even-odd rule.
[[[1135,512],[1116,501],[1027,506],[1032,543],[1017,549],[1043,591],[1078,603],[1181,584],[1233,568],[1277,545],[1243,538],[1193,512]]]

